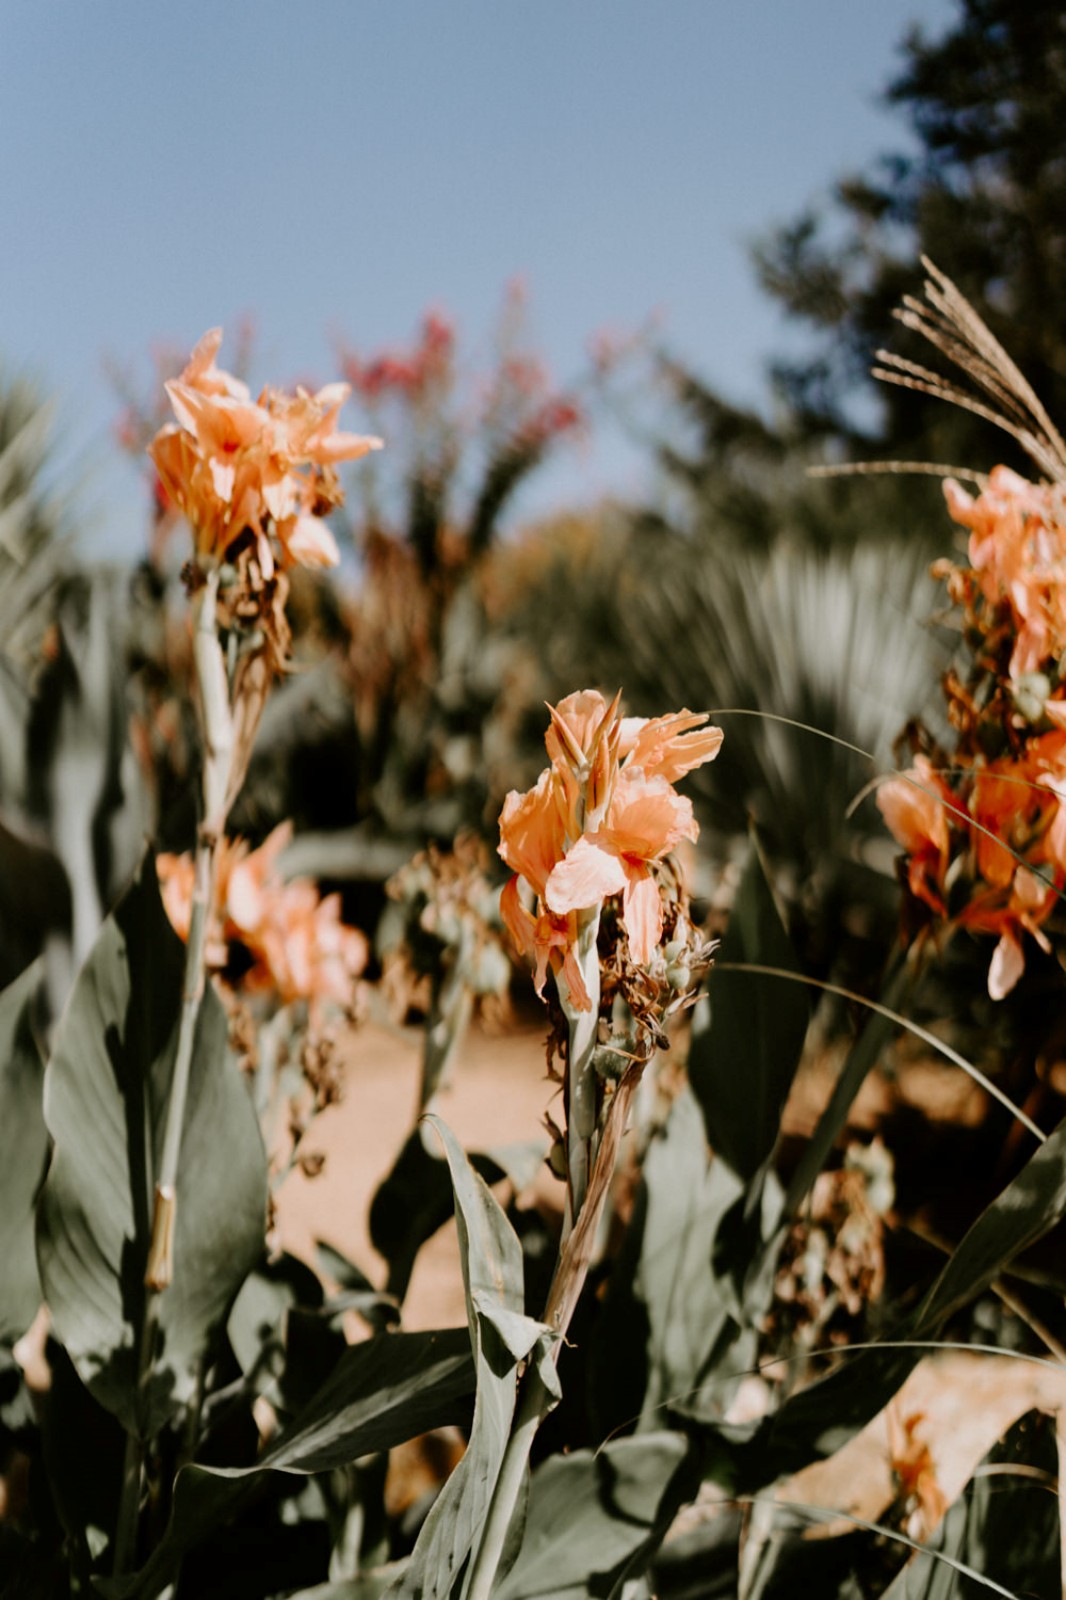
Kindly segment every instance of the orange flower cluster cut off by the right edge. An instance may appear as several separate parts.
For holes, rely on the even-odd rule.
[[[906,886],[925,917],[997,936],[988,989],[1024,971],[1023,936],[1066,883],[1066,488],[996,467],[980,496],[949,480],[948,509],[970,530],[970,565],[935,571],[964,608],[973,670],[944,680],[957,746],[919,728],[925,754],[877,803],[908,853]]]

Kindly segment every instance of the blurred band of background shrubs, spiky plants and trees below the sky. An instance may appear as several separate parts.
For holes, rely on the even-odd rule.
[[[812,469],[984,469],[1010,454],[980,418],[869,379],[882,344],[908,350],[892,309],[917,288],[919,253],[988,314],[1055,411],[1064,51],[1048,0],[960,0],[946,34],[909,37],[885,90],[901,149],[754,250],[794,330],[763,411],[717,394],[648,333],[594,349],[587,373],[555,386],[515,285],[488,371],[437,310],[407,347],[341,342],[359,422],[387,450],[354,478],[339,581],[293,584],[293,672],[269,702],[234,826],[258,840],[293,818],[291,870],[347,885],[349,912],[371,922],[416,850],[463,827],[495,838],[506,790],[539,766],[544,699],[623,686],[631,712],[723,714],[723,757],[696,786],[706,882],[754,818],[808,958],[829,970],[848,939],[869,946],[863,960],[884,952],[892,848],[871,802],[850,805],[893,765],[908,718],[935,722],[954,637],[930,626],[927,566],[951,528],[935,477]],[[251,325],[237,346],[248,374]],[[157,360],[150,384],[118,382],[120,443],[141,461],[179,357]],[[645,440],[656,493],[515,526],[523,482],[608,410]],[[6,942],[40,946],[59,928],[77,952],[133,838],[187,848],[198,757],[174,514],[146,477],[142,562],[82,570],[62,546],[77,518],[43,490],[45,424],[26,386],[0,379],[2,819],[48,858],[32,886],[11,880],[32,931]]]

